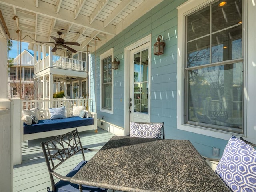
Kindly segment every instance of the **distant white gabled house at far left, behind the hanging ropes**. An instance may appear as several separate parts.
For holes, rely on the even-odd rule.
[[[34,55],[24,50],[8,68],[8,98],[34,99]]]

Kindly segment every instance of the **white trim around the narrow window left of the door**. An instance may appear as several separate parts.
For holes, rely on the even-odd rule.
[[[109,49],[108,51],[104,52],[103,54],[100,55],[100,111],[101,112],[105,112],[105,113],[110,113],[110,114],[114,114],[114,100],[113,100],[113,97],[114,97],[114,89],[113,89],[113,79],[114,79],[114,73],[112,71],[111,75],[112,75],[112,81],[111,81],[111,92],[112,92],[112,95],[111,95],[111,110],[106,110],[104,108],[102,108],[102,63],[101,61],[104,59],[104,58],[107,58],[111,56],[111,61],[113,61],[113,58],[114,58],[114,48],[111,48]]]

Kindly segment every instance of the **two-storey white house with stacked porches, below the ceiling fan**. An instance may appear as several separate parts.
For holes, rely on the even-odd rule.
[[[49,50],[48,56],[46,51]],[[36,99],[53,99],[53,94],[63,91],[66,98],[86,98],[88,93],[88,54],[68,53],[63,56],[51,52],[52,47],[34,44],[34,55],[42,54],[42,59],[34,66]]]

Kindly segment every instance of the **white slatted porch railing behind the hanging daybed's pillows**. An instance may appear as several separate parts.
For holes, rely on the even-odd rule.
[[[58,108],[66,106],[71,108],[72,106],[84,106],[86,110],[92,110],[92,99],[53,99],[53,100],[22,100],[23,109],[48,109]]]

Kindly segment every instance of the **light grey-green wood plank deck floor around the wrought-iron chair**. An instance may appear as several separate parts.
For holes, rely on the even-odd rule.
[[[94,130],[79,133],[82,144],[87,148],[101,148],[113,136],[113,134],[98,128],[98,133]],[[14,192],[46,192],[46,188],[51,186],[50,177],[44,160],[44,155],[40,143],[50,138],[30,140],[22,142],[22,164],[14,166],[13,170],[13,191]],[[87,152],[86,160],[94,156],[96,152]],[[72,161],[65,162],[64,168],[60,170],[62,174],[74,168],[75,164],[82,160],[79,155],[71,158]]]

